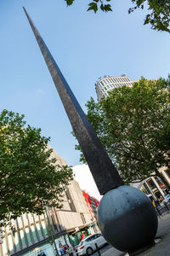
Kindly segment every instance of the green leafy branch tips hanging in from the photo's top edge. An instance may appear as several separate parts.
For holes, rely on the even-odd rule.
[[[67,5],[71,5],[74,0],[65,0]],[[150,24],[152,29],[157,31],[170,32],[170,2],[167,0],[131,0],[135,6],[128,9],[131,14],[135,9],[148,8],[149,13],[145,16],[144,25]],[[88,4],[88,10],[94,10],[94,13],[101,9],[102,11],[112,11],[111,0],[93,0]]]

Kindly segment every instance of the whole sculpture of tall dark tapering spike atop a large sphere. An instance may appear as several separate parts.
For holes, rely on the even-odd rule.
[[[48,47],[24,8],[65,112],[88,162],[99,193],[98,224],[105,239],[117,249],[133,253],[149,247],[156,235],[157,217],[150,200],[139,189],[122,186],[122,178],[96,136]]]

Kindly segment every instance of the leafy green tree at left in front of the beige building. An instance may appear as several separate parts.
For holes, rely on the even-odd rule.
[[[43,207],[62,206],[62,193],[72,179],[59,166],[41,129],[26,126],[24,115],[0,114],[0,220],[8,224],[21,213],[41,214]]]

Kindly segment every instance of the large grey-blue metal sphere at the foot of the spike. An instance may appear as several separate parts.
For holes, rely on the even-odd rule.
[[[153,244],[158,221],[152,202],[142,191],[120,186],[101,199],[98,224],[113,247],[134,253]]]

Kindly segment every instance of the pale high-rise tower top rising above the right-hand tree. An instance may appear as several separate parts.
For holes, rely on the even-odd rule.
[[[108,92],[114,88],[122,85],[132,86],[134,82],[136,81],[130,80],[125,74],[122,74],[120,77],[104,76],[103,79],[100,77],[95,84],[98,101],[102,97],[108,96]]]

